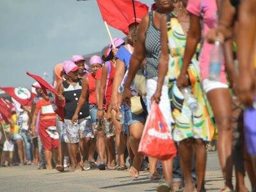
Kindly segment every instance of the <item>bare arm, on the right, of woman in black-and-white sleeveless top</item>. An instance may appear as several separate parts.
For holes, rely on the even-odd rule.
[[[83,78],[82,79],[82,92],[81,92],[81,95],[80,95],[78,103],[77,103],[76,111],[72,117],[73,124],[74,124],[74,122],[77,122],[77,120],[78,120],[78,113],[81,110],[81,108],[86,100],[87,90],[88,90],[88,81],[86,78]]]

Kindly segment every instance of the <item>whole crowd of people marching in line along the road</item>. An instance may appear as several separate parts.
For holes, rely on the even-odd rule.
[[[221,191],[249,191],[246,173],[256,191],[255,122],[243,122],[254,110],[255,0],[155,1],[102,56],[56,65],[63,120],[39,83],[31,106],[13,108],[10,124],[1,118],[2,166],[129,170],[132,178],[148,169],[150,180],[163,180],[157,191],[205,191],[207,144],[217,140]],[[156,105],[175,141],[168,159],[138,152]]]

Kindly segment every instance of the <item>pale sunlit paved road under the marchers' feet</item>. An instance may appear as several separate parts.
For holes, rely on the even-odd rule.
[[[131,179],[128,172],[116,170],[88,170],[59,173],[56,170],[36,170],[37,166],[0,168],[0,191],[156,191],[158,182],[148,180],[142,172],[138,179]],[[246,180],[248,184],[248,180]],[[207,160],[205,187],[207,191],[220,191],[223,179],[216,153]],[[249,185],[247,185],[249,186]]]

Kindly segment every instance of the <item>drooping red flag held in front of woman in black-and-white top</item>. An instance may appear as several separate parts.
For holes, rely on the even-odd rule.
[[[65,101],[63,102],[58,100],[58,93],[56,90],[54,90],[51,84],[47,83],[47,81],[45,81],[42,77],[36,76],[29,72],[27,72],[27,75],[35,79],[40,84],[43,92],[49,96],[53,110],[60,116],[62,120],[64,120]]]

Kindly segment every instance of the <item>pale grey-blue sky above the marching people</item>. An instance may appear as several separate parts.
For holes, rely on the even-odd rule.
[[[113,28],[111,33],[124,37]],[[56,63],[73,54],[101,51],[107,44],[96,0],[0,1],[0,86],[29,88],[34,81],[26,71],[40,76],[47,72],[51,82]]]

